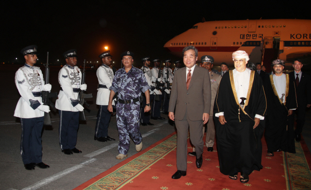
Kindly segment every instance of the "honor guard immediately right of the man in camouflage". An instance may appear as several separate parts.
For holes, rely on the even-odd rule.
[[[155,89],[155,86],[152,82],[155,82],[157,78],[155,78],[151,74],[150,66],[150,58],[144,57],[141,59],[143,66],[140,68],[144,73],[147,83],[150,86],[150,102],[153,102],[155,99],[155,94],[158,94],[158,91]],[[146,96],[143,95],[142,107],[140,107],[140,123],[142,126],[153,126],[154,124],[150,123],[150,112],[144,112],[144,108],[146,106]]]

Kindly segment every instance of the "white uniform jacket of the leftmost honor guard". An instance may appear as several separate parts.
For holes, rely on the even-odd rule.
[[[43,104],[42,98],[34,95],[40,93],[44,85],[40,68],[25,63],[15,74],[15,84],[21,97],[17,102],[14,116],[19,118],[43,117],[44,111],[36,109]]]

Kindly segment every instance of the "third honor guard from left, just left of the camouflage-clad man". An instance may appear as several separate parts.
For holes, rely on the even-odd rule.
[[[109,50],[100,54],[99,58],[101,58],[102,65],[98,67],[96,72],[99,83],[96,104],[99,105],[99,110],[97,113],[94,140],[99,142],[115,141],[115,139],[108,136],[108,126],[111,117],[111,113],[107,110],[110,95],[109,88],[114,77],[113,70],[110,68],[111,57],[112,55],[110,55]],[[114,101],[113,105],[115,105]]]

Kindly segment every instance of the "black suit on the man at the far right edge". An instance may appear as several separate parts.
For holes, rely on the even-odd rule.
[[[293,71],[289,73],[290,77],[295,81],[296,72]],[[305,124],[306,108],[307,104],[311,104],[311,80],[310,76],[302,72],[301,79],[298,86],[295,83],[296,96],[297,96],[297,105],[296,109],[297,114],[297,126],[295,129],[295,134],[300,135],[302,127]],[[294,125],[294,114],[291,119],[291,125]]]

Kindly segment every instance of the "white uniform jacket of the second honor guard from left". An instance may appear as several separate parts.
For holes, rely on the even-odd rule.
[[[55,108],[61,111],[79,111],[74,108],[79,103],[78,89],[81,86],[82,73],[78,66],[66,64],[58,73],[58,82],[63,90],[59,91]],[[75,92],[74,92],[75,91]]]

